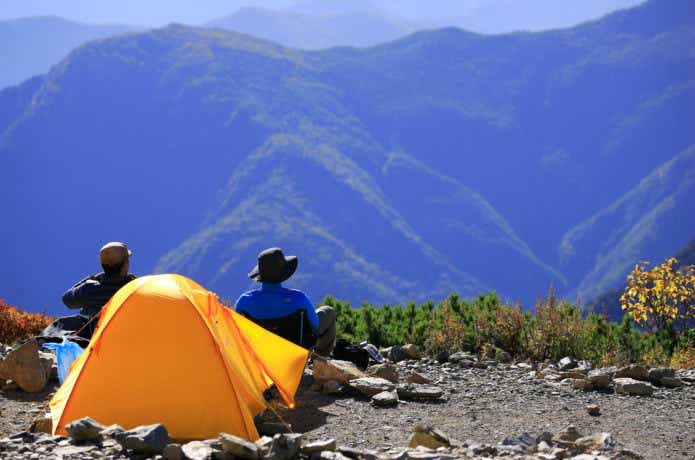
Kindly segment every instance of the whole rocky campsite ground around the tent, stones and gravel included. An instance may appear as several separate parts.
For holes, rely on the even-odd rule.
[[[275,410],[258,420],[262,433],[301,439],[266,437],[243,452],[230,440],[163,451],[171,441],[159,431],[152,438],[159,447],[138,450],[145,441],[137,433],[99,435],[98,426],[79,441],[22,434],[45,412],[51,389],[28,394],[8,383],[0,394],[0,458],[695,459],[695,371],[443,358],[372,366],[368,377],[349,364],[316,360],[297,407],[272,402]],[[409,444],[430,449],[406,450]]]

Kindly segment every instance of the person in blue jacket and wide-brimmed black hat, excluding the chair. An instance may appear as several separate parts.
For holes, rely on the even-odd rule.
[[[303,292],[282,286],[294,274],[297,264],[297,256],[285,256],[280,248],[261,252],[258,264],[249,273],[249,278],[261,283],[261,287],[239,296],[236,311],[254,319],[271,320],[304,310],[317,337],[314,351],[329,356],[335,347],[335,310],[329,306],[314,309]]]

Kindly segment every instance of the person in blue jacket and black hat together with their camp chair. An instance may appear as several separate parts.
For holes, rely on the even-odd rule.
[[[333,308],[314,309],[301,291],[287,289],[281,283],[297,269],[296,256],[287,256],[280,248],[269,248],[258,255],[258,264],[249,278],[261,283],[260,289],[245,292],[236,301],[236,311],[287,340],[329,356],[335,347],[336,315]],[[299,316],[297,314],[299,313]],[[308,323],[310,330],[304,329]],[[310,342],[307,343],[307,337]]]

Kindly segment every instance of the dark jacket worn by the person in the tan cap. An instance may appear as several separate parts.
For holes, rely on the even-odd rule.
[[[97,273],[75,284],[63,294],[63,303],[68,308],[79,308],[80,314],[92,317],[101,311],[113,295],[136,278],[128,274],[106,275]]]

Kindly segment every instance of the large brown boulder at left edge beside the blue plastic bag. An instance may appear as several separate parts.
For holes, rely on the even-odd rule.
[[[53,355],[40,352],[36,340],[29,340],[0,362],[0,379],[11,379],[22,390],[36,393],[46,387],[53,362]]]

